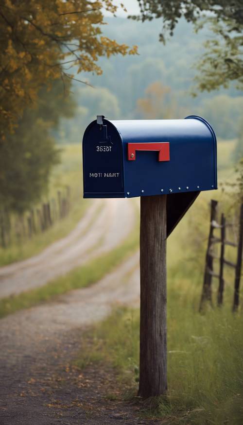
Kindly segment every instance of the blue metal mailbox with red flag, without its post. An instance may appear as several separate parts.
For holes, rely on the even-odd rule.
[[[216,136],[205,119],[99,118],[83,138],[84,198],[217,188]]]

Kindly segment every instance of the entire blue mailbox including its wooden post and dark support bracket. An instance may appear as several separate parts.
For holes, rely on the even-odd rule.
[[[167,389],[166,240],[201,190],[217,188],[216,136],[187,119],[97,116],[83,138],[84,198],[140,196],[139,395]]]

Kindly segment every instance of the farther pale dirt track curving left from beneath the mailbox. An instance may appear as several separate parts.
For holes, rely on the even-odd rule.
[[[95,200],[76,228],[39,255],[0,268],[0,298],[37,288],[111,250],[135,222],[131,200]]]

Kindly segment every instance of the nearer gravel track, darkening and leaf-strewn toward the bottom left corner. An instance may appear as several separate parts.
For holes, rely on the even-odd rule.
[[[107,383],[100,368],[62,376],[67,362],[82,349],[82,329],[121,304],[139,305],[138,253],[88,288],[2,319],[0,424],[104,425],[121,423],[122,418],[122,424],[139,424],[134,408],[110,406],[105,400],[114,376]]]

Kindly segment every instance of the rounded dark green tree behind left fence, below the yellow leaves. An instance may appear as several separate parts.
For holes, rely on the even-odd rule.
[[[41,119],[30,123],[30,115],[24,114],[15,136],[0,146],[0,203],[19,214],[39,200],[58,162],[46,124]]]

